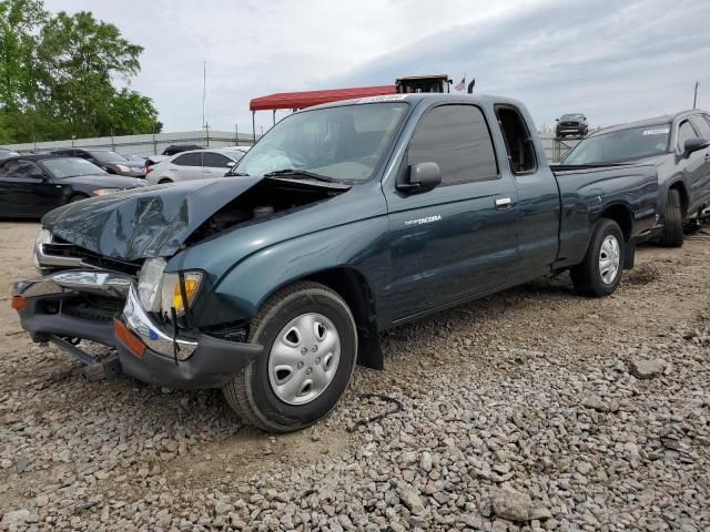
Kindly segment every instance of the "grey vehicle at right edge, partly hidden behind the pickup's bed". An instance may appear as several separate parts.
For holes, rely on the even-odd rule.
[[[682,246],[683,225],[709,214],[710,115],[683,111],[605,127],[577,144],[562,164],[635,162],[658,170],[659,221],[652,234],[661,245]]]

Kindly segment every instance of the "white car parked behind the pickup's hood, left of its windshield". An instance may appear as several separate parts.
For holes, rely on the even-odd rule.
[[[221,177],[244,156],[250,146],[182,152],[148,168],[145,181],[173,183],[175,181]]]

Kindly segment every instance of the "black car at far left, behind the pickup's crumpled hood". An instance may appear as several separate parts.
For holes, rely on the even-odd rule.
[[[0,162],[0,216],[39,218],[68,203],[139,186],[145,182],[109,175],[83,158],[22,155]]]

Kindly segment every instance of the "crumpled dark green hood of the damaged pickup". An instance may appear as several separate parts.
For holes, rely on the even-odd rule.
[[[42,225],[106,257],[168,257],[210,216],[261,180],[219,177],[134,188],[55,208]]]

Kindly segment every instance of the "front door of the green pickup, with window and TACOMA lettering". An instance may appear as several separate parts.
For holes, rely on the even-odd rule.
[[[481,110],[435,105],[417,124],[403,165],[434,162],[442,184],[420,194],[388,183],[390,284],[396,321],[510,283],[518,263],[518,198],[498,168]]]

